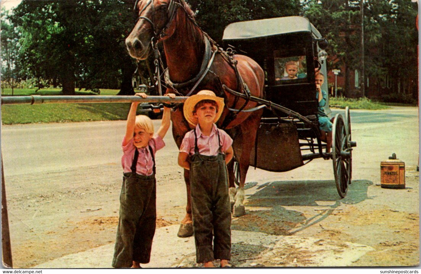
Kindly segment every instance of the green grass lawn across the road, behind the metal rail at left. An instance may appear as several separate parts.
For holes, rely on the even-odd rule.
[[[14,89],[13,95],[62,95],[60,89]],[[118,90],[101,89],[101,95],[116,95]],[[95,93],[77,91],[79,95]],[[2,90],[2,96],[10,96],[11,89]],[[98,96],[101,96],[98,95]],[[40,105],[3,105],[1,119],[3,125],[48,123],[48,122],[83,122],[101,120],[125,120],[130,103],[97,104],[40,104]]]

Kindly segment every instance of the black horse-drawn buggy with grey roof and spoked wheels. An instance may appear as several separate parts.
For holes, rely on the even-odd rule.
[[[265,104],[250,165],[283,172],[316,158],[333,160],[336,188],[345,197],[352,176],[351,121],[336,114],[332,130],[332,152],[324,153],[317,117],[315,71],[325,75],[328,90],[326,52],[328,42],[301,16],[280,17],[229,24],[223,37],[225,48],[250,56],[265,72],[265,97],[249,98]],[[288,79],[285,64],[296,62],[296,79]],[[231,93],[242,96],[244,94]],[[330,114],[326,102],[325,112]],[[238,168],[236,176],[238,178]]]

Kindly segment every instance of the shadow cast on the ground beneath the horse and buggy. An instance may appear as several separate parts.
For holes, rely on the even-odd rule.
[[[241,231],[263,232],[272,235],[291,235],[327,218],[333,209],[344,204],[357,204],[366,199],[368,180],[352,181],[348,194],[341,199],[335,181],[275,181],[258,187],[247,199],[248,207],[268,207],[268,210],[247,210],[246,215],[232,221],[231,228]],[[326,210],[306,216],[284,206],[314,206],[317,201],[331,202]],[[333,202],[333,203],[332,203]]]

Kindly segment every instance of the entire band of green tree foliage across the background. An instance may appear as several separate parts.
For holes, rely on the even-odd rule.
[[[199,26],[220,44],[232,22],[306,16],[329,40],[329,68],[345,67],[345,90],[349,73],[361,68],[361,1],[366,76],[393,79],[388,92],[416,90],[417,3],[410,0],[187,0]],[[136,64],[125,37],[134,26],[134,2],[23,0],[11,15],[2,14],[1,54],[7,64],[2,66],[3,79],[36,77],[61,85],[67,94],[74,93],[75,86],[120,85],[120,94],[132,94]],[[144,63],[139,67],[147,80]]]

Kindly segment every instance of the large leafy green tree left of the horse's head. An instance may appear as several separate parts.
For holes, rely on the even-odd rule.
[[[133,0],[24,0],[11,16],[19,27],[21,60],[35,77],[58,80],[64,94],[117,88],[133,94],[136,69],[125,49]]]

